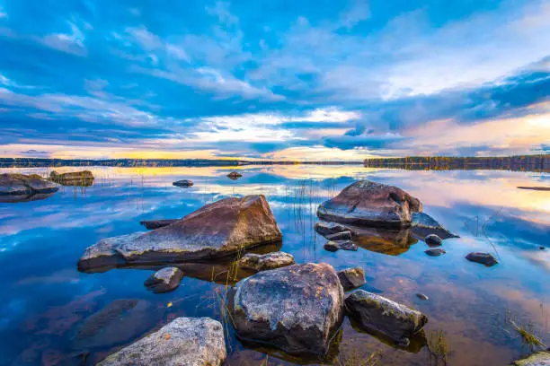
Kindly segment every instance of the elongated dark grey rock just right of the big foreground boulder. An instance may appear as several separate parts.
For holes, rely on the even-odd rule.
[[[351,292],[345,306],[359,328],[386,335],[397,344],[409,344],[409,338],[428,322],[418,310],[363,290]]]

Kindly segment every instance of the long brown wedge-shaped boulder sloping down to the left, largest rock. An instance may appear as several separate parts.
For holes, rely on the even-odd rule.
[[[93,271],[208,260],[280,240],[282,234],[264,196],[231,197],[155,231],[100,240],[85,249],[78,268]]]

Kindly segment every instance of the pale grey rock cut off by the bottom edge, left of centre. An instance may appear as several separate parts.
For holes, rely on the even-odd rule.
[[[97,365],[219,366],[226,357],[226,341],[220,322],[211,318],[175,318]]]

